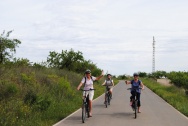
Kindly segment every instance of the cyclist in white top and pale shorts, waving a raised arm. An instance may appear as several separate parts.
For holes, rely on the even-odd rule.
[[[93,81],[99,80],[104,75],[104,72],[102,71],[101,75],[99,77],[91,76],[91,71],[88,69],[85,71],[85,77],[82,78],[80,84],[77,87],[77,90],[80,90],[80,87],[84,84],[84,90],[93,89]],[[94,90],[87,91],[86,96],[89,94],[89,117],[92,117],[92,100],[94,96]],[[83,97],[85,96],[85,92],[83,92]]]

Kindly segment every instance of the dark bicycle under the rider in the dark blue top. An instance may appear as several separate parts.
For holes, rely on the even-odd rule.
[[[134,92],[134,96],[136,97],[136,90],[137,89],[142,89],[142,88],[128,88],[127,90],[132,90],[133,92]],[[137,109],[138,109],[138,99],[137,98],[133,98],[132,97],[132,105],[131,105],[131,107],[132,107],[132,109],[133,109],[133,111],[134,111],[134,114],[135,114],[135,119],[136,119],[136,117],[137,117]]]

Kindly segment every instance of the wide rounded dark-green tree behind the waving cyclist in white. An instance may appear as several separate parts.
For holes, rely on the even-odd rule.
[[[90,69],[94,76],[101,73],[101,70],[97,68],[96,64],[90,60],[85,60],[82,52],[75,52],[73,49],[70,51],[62,50],[61,53],[55,51],[50,52],[50,55],[47,57],[47,63],[49,67],[68,69],[77,73],[84,73],[86,69]]]

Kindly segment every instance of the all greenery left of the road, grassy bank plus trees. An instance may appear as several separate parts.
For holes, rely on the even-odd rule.
[[[101,69],[73,49],[50,52],[42,63],[15,58],[21,42],[10,39],[11,32],[0,35],[0,125],[51,126],[79,109],[82,92],[76,87],[84,71],[99,76]],[[104,79],[94,82],[95,98],[104,93]]]

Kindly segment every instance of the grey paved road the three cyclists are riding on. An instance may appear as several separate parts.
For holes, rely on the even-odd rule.
[[[130,86],[130,85],[129,85]],[[188,118],[145,87],[137,119],[129,106],[128,85],[120,81],[113,90],[111,105],[105,108],[104,94],[93,101],[93,117],[81,121],[81,109],[54,126],[188,126]]]

